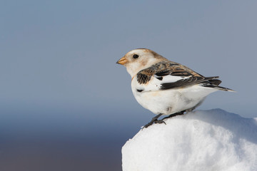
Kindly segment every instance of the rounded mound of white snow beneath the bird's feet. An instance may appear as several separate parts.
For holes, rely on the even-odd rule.
[[[257,170],[257,119],[197,110],[140,130],[122,147],[123,171]]]

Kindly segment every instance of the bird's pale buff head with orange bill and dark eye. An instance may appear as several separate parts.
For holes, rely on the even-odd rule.
[[[164,60],[167,59],[150,49],[138,48],[126,53],[126,55],[120,58],[116,63],[125,66],[128,73],[133,77],[139,71]]]

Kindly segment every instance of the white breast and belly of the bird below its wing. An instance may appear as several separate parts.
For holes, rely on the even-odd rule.
[[[139,84],[136,78],[131,81],[132,92],[138,103],[155,114],[163,113],[163,115],[193,108],[209,93],[216,91],[214,88],[199,85],[168,90],[160,90],[160,86],[160,81],[154,77],[147,84]]]

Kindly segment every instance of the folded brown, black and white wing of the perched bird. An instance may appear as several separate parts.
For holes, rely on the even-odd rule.
[[[204,77],[186,66],[171,61],[163,61],[139,71],[137,81],[144,91],[168,90],[207,83],[218,77]]]

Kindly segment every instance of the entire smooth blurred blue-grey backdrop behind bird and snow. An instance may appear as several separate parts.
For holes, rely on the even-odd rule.
[[[257,1],[1,1],[0,170],[121,170],[154,116],[116,61],[150,48],[237,93],[201,110],[257,117]]]

